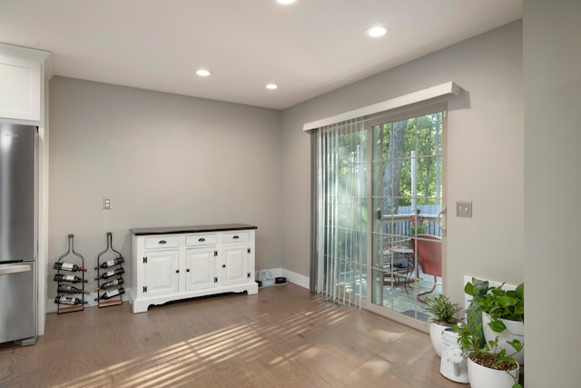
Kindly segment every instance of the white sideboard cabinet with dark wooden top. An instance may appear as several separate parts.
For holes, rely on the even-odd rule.
[[[216,293],[258,293],[248,224],[131,229],[133,313]]]

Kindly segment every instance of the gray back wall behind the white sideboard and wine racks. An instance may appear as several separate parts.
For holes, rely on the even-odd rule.
[[[256,224],[257,269],[281,267],[279,123],[275,110],[54,77],[49,297],[71,233],[92,268],[106,232],[129,258],[132,227]]]

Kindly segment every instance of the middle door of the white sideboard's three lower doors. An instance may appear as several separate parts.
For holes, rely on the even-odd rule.
[[[185,251],[186,291],[213,287],[216,282],[216,248],[187,249]]]

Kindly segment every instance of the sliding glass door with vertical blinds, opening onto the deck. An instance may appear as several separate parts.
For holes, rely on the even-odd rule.
[[[313,134],[313,291],[428,318],[423,298],[442,288],[443,112],[362,117]]]

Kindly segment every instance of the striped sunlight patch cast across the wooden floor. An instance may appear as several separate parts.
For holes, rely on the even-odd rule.
[[[280,323],[271,323],[265,329],[261,323],[260,331],[255,329],[258,322],[231,325],[221,330],[200,335],[190,340],[175,343],[156,353],[133,358],[123,363],[116,363],[107,368],[84,375],[57,385],[66,388],[82,388],[88,386],[109,385],[113,376],[117,387],[166,387],[192,382],[196,375],[210,374],[217,365],[225,365],[233,358],[241,358],[248,362],[273,355],[267,365],[281,365],[295,357],[317,358],[323,352],[315,346],[305,345],[300,339],[300,333],[318,321],[326,322],[329,327],[341,323],[347,317],[347,311],[340,307],[316,303],[310,309],[298,314],[281,315]],[[259,318],[260,319],[260,318]],[[277,333],[295,333],[300,342],[292,346],[293,351],[279,354],[275,347],[277,343],[269,343],[267,338]],[[389,333],[383,335],[382,341],[393,340]],[[397,337],[397,335],[396,335]],[[288,346],[287,346],[288,347]]]

